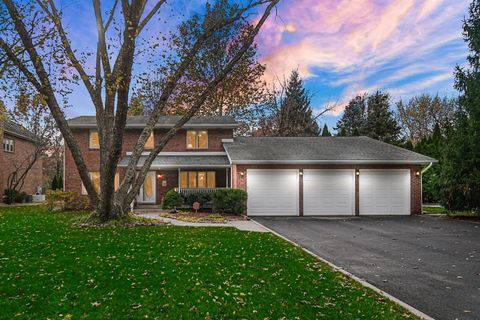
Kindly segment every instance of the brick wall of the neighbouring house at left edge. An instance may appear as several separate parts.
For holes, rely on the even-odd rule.
[[[3,150],[3,138],[10,138],[14,141],[14,152]],[[35,145],[25,139],[10,135],[8,132],[0,130],[0,141],[2,141],[2,149],[0,150],[0,199],[3,197],[3,191],[7,188],[7,180],[12,172],[18,170],[18,175],[24,170],[24,164],[31,157],[32,150]],[[43,161],[39,159],[25,177],[24,183],[20,191],[28,194],[35,194],[37,187],[43,186]]]

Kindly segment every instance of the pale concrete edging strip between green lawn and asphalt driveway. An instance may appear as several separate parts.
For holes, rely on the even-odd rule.
[[[377,287],[374,286],[373,284],[365,281],[364,279],[361,279],[361,278],[357,277],[356,275],[354,275],[354,274],[348,272],[347,270],[345,270],[345,269],[343,269],[343,268],[341,268],[341,267],[333,264],[332,262],[326,260],[325,258],[320,257],[319,255],[313,253],[312,251],[310,251],[310,250],[302,247],[302,246],[299,245],[298,243],[296,243],[296,242],[294,242],[294,241],[292,241],[292,240],[290,240],[290,239],[282,236],[281,234],[279,234],[278,232],[276,232],[276,231],[268,228],[267,226],[264,226],[264,225],[261,224],[260,222],[254,220],[254,219],[250,219],[250,220],[253,221],[254,223],[256,223],[257,225],[265,228],[266,230],[268,230],[270,233],[276,235],[277,237],[279,237],[279,238],[281,238],[281,239],[283,239],[283,240],[291,243],[291,244],[294,245],[295,247],[298,247],[298,248],[302,249],[303,251],[305,251],[305,252],[308,253],[309,255],[311,255],[311,256],[315,257],[316,259],[318,259],[318,260],[326,263],[326,264],[329,265],[332,269],[334,269],[334,271],[339,271],[340,273],[344,274],[345,276],[350,277],[351,279],[359,282],[361,285],[363,285],[363,286],[365,286],[365,287],[367,287],[367,288],[372,289],[373,291],[375,291],[376,293],[378,293],[378,294],[382,295],[383,297],[389,299],[390,301],[392,301],[392,302],[394,302],[394,303],[402,306],[403,308],[407,309],[408,311],[410,311],[411,313],[413,313],[413,314],[416,315],[417,317],[420,317],[420,318],[422,318],[422,319],[424,319],[424,320],[435,320],[434,318],[432,318],[432,317],[430,317],[429,315],[423,313],[422,311],[416,309],[415,307],[409,305],[408,303],[406,303],[406,302],[404,302],[404,301],[402,301],[402,300],[400,300],[400,299],[392,296],[391,294],[389,294],[389,293],[387,293],[387,292],[385,292],[385,291],[377,288]]]

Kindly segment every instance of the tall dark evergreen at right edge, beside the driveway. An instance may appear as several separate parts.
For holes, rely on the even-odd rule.
[[[480,0],[469,7],[463,36],[469,67],[457,66],[455,88],[461,92],[453,133],[441,172],[441,201],[452,210],[480,209]]]

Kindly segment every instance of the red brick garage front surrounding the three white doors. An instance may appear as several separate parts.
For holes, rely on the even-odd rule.
[[[411,214],[422,213],[422,178],[416,172],[421,170],[419,165],[253,165],[239,164],[232,166],[233,188],[247,190],[247,169],[409,169],[410,170],[410,210]],[[303,184],[300,178],[300,213],[303,209]],[[355,214],[359,214],[359,178],[355,175]]]

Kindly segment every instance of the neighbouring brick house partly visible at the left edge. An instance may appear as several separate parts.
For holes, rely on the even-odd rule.
[[[21,125],[7,120],[0,122],[0,140],[3,142],[0,152],[0,195],[3,197],[9,177],[19,178],[32,159],[36,137]],[[29,170],[19,191],[35,194],[42,186],[42,179],[43,160],[40,157]]]

